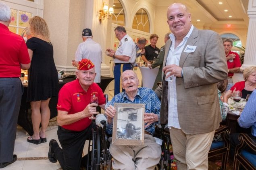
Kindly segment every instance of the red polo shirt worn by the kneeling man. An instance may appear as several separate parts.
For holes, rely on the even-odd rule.
[[[89,104],[91,96],[94,93],[98,96],[99,105],[105,104],[105,97],[102,89],[100,89],[96,83],[90,85],[86,92],[82,89],[78,79],[66,83],[60,89],[57,110],[67,111],[68,114],[82,111]],[[90,125],[91,121],[91,119],[85,117],[69,125],[63,125],[62,127],[67,130],[82,131]]]

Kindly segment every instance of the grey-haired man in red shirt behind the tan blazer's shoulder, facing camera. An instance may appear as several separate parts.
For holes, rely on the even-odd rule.
[[[237,53],[231,51],[233,47],[233,40],[226,38],[223,40],[223,46],[226,53],[227,68],[229,69],[228,81],[229,83],[233,83],[232,77],[234,73],[239,72],[241,67],[240,58]]]

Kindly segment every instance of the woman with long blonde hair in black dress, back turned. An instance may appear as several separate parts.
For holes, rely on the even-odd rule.
[[[27,102],[31,105],[33,135],[27,138],[27,142],[41,144],[46,142],[46,128],[50,119],[49,101],[52,96],[58,94],[58,73],[46,21],[34,16],[29,20],[29,31],[32,38],[27,40],[31,59]],[[42,127],[39,132],[40,123]]]

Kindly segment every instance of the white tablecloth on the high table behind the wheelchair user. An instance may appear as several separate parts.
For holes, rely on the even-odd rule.
[[[139,69],[142,73],[142,86],[152,89],[159,68],[150,69],[148,67],[139,67]]]

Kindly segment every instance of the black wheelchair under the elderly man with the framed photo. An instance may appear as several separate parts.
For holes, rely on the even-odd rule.
[[[105,94],[104,96],[107,102],[108,95]],[[171,160],[171,140],[168,130],[164,130],[164,126],[160,127],[156,125],[153,136],[162,140],[162,156],[160,162],[156,165],[157,170],[171,170],[171,163],[173,162]],[[87,155],[87,170],[111,170],[112,156],[108,150],[110,145],[108,137],[110,136],[106,134],[105,120],[100,121],[96,128],[91,130]]]

